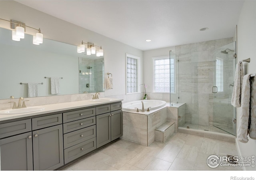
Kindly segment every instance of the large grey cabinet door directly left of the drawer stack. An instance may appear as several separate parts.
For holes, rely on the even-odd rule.
[[[32,135],[34,170],[55,170],[64,165],[62,124],[35,130]]]

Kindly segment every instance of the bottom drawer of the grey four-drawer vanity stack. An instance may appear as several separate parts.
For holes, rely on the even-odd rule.
[[[92,138],[64,150],[64,163],[68,163],[96,149],[96,138]]]

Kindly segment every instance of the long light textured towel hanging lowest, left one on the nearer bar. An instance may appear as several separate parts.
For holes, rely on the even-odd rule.
[[[248,122],[250,118],[250,74],[246,74],[242,84],[240,126],[238,128],[238,140],[248,142]]]

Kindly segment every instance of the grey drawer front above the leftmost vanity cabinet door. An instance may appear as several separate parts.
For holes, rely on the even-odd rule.
[[[0,124],[0,138],[31,131],[31,119]]]

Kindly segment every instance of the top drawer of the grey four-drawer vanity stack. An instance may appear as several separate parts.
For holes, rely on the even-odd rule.
[[[72,112],[63,113],[63,123],[80,120],[95,116],[95,108],[88,108]]]

